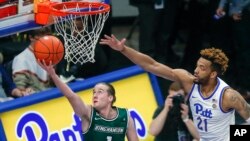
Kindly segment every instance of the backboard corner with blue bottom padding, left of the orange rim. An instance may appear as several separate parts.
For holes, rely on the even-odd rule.
[[[0,37],[42,27],[35,22],[34,2],[43,0],[0,0]],[[51,0],[62,2],[62,0]],[[109,0],[81,0],[104,2]]]

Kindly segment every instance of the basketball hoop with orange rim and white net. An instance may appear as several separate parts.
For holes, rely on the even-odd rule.
[[[63,37],[67,62],[95,62],[95,47],[110,6],[100,2],[50,4],[56,32]]]

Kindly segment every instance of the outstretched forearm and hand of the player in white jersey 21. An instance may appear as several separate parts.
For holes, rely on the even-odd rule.
[[[177,78],[173,69],[158,63],[153,58],[140,53],[128,46],[125,45],[126,39],[118,40],[114,35],[108,36],[104,35],[104,38],[101,39],[100,44],[108,45],[112,49],[116,51],[120,51],[123,55],[125,55],[128,59],[130,59],[133,63],[142,67],[145,71],[151,72],[157,76],[175,81]]]

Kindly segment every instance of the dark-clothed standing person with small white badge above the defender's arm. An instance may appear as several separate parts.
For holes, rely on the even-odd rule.
[[[179,61],[172,49],[181,0],[130,0],[139,10],[139,50],[162,63]]]

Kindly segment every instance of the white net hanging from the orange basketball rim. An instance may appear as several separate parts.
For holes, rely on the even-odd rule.
[[[102,8],[100,7],[100,9]],[[79,13],[83,10],[97,11],[99,9],[92,8],[91,3],[87,8],[80,7],[76,3],[74,8],[72,8],[72,5],[70,7],[63,5],[62,10]],[[55,30],[64,39],[64,58],[67,62],[74,64],[95,62],[95,47],[108,16],[109,12],[53,16]]]

